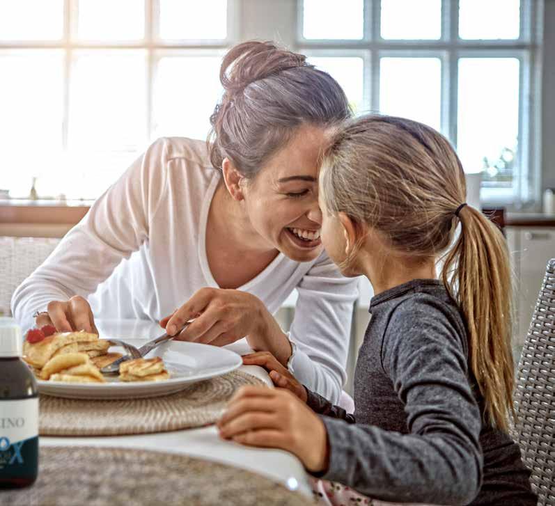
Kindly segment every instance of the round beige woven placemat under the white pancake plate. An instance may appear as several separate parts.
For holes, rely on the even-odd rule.
[[[264,385],[234,371],[148,399],[83,400],[41,395],[41,436],[116,436],[203,427],[214,423],[242,385]]]

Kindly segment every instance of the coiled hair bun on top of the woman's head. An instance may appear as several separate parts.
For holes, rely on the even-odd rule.
[[[238,44],[221,63],[220,81],[228,97],[237,95],[249,84],[284,70],[313,67],[306,56],[281,49],[274,42],[251,40]]]

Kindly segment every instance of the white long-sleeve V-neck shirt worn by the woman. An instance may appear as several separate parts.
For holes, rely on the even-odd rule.
[[[12,298],[23,328],[52,300],[86,297],[97,318],[159,320],[202,287],[218,287],[206,258],[208,209],[221,178],[203,141],[159,139],[93,204]],[[299,298],[290,340],[295,376],[334,402],[345,381],[357,280],[325,253],[295,262],[283,253],[239,290],[275,313]]]

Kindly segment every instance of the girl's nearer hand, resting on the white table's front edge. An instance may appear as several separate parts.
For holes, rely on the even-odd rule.
[[[289,390],[244,386],[217,422],[220,436],[261,448],[297,455],[312,473],[328,466],[324,422]]]

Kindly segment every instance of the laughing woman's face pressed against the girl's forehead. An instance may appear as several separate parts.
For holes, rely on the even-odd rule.
[[[326,141],[325,130],[300,127],[243,189],[253,228],[297,262],[314,260],[322,252],[318,162]]]

